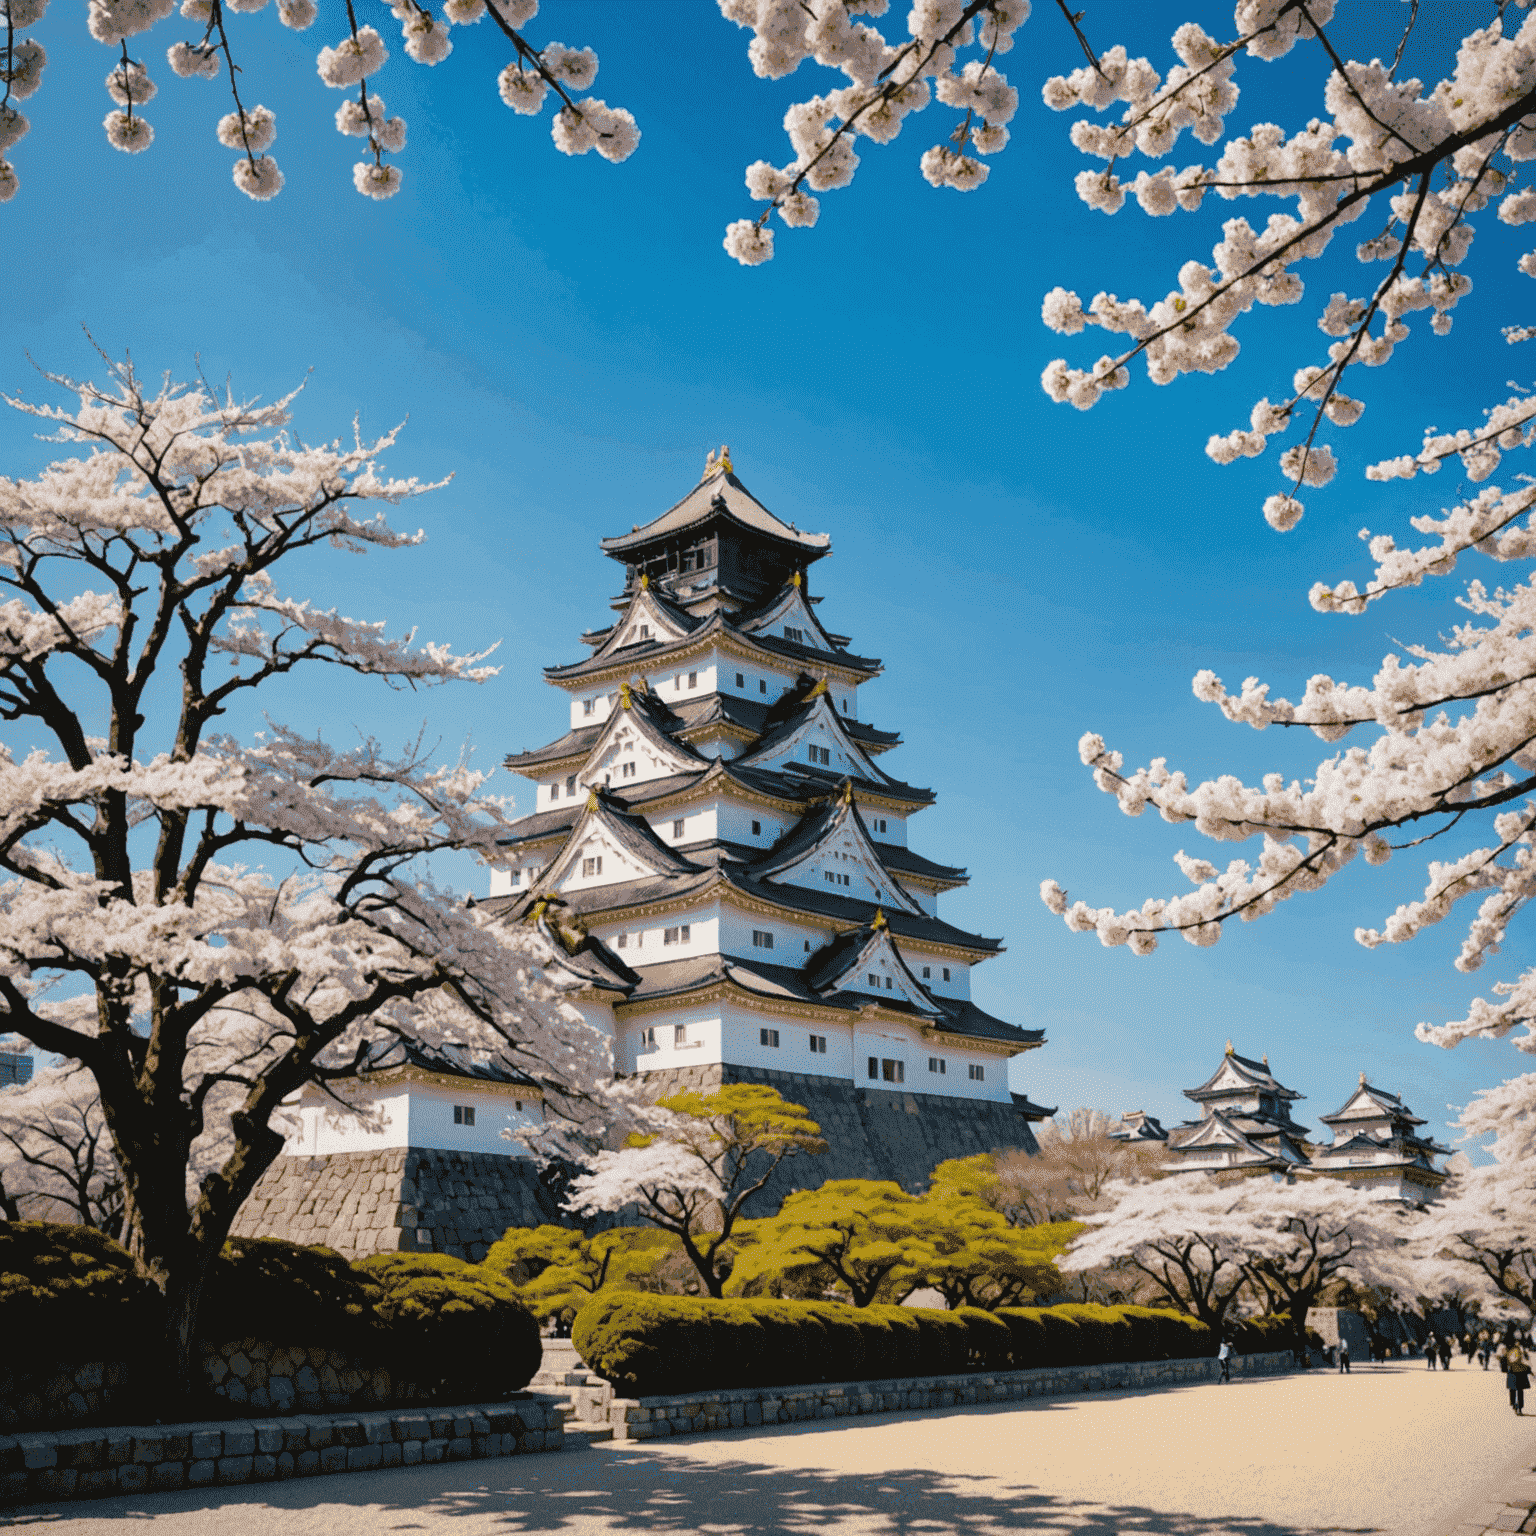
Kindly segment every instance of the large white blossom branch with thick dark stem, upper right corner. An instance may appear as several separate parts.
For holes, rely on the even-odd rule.
[[[1452,312],[1471,290],[1458,267],[1471,247],[1475,215],[1496,204],[1507,224],[1536,220],[1536,195],[1510,190],[1513,167],[1536,157],[1536,17],[1527,15],[1510,37],[1502,18],[1473,31],[1450,72],[1428,84],[1399,78],[1379,60],[1339,60],[1327,40],[1332,18],[1332,0],[1304,8],[1244,0],[1230,40],[1213,38],[1197,23],[1180,26],[1172,38],[1177,63],[1166,78],[1147,58],[1117,46],[1043,89],[1046,106],[1055,111],[1123,108],[1115,123],[1080,117],[1071,129],[1074,146],[1103,161],[1077,178],[1078,195],[1100,212],[1120,212],[1127,194],[1152,217],[1193,212],[1207,192],[1226,201],[1264,197],[1293,204],[1293,212],[1272,214],[1258,230],[1241,217],[1226,221],[1210,263],[1186,261],[1178,286],[1160,300],[1098,293],[1084,304],[1064,287],[1046,295],[1041,318],[1052,330],[1077,335],[1098,326],[1127,339],[1092,369],[1066,359],[1048,364],[1041,384],[1055,401],[1094,406],[1104,379],[1138,356],[1158,384],[1227,367],[1238,355],[1238,318],[1255,304],[1299,303],[1301,263],[1321,257],[1335,233],[1369,206],[1384,204],[1384,229],[1362,241],[1356,255],[1367,264],[1387,263],[1387,273],[1366,293],[1330,296],[1318,315],[1319,329],[1332,338],[1326,358],[1298,369],[1278,404],[1260,399],[1247,427],[1218,433],[1207,444],[1217,462],[1229,464],[1256,458],[1269,450],[1270,438],[1309,424],[1306,441],[1278,455],[1286,490],[1264,502],[1266,519],[1281,531],[1304,511],[1301,488],[1326,485],[1338,468],[1335,449],[1318,441],[1318,429],[1324,421],[1352,425],[1364,409],[1339,387],[1346,370],[1389,362],[1409,338],[1405,316],[1415,312],[1430,315],[1435,335],[1450,330]],[[1238,101],[1240,58],[1273,60],[1298,45],[1312,45],[1322,66],[1322,112],[1304,127],[1287,134],[1261,123],[1229,138],[1213,161],[1141,169],[1134,178],[1120,169],[1137,155],[1166,158],[1186,131],[1201,144],[1217,144]],[[1409,270],[1410,258],[1419,270]],[[1525,267],[1536,273],[1536,252],[1524,258]],[[1468,468],[1481,467],[1485,475],[1498,462],[1493,444],[1510,439],[1525,415],[1519,409],[1502,422],[1490,421],[1490,432],[1478,441],[1432,433],[1416,458],[1369,473],[1405,476],[1461,453]]]

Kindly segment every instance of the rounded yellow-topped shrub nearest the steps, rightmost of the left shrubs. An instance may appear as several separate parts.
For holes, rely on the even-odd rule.
[[[544,1346],[510,1281],[447,1253],[373,1253],[353,1266],[375,1283],[390,1369],[441,1399],[519,1392]]]

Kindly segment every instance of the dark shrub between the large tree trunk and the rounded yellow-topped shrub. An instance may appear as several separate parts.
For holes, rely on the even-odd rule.
[[[210,1344],[323,1344],[387,1362],[382,1299],[378,1281],[333,1249],[230,1238],[203,1287],[198,1335]]]

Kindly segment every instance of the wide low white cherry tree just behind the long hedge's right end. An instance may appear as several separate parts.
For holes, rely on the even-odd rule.
[[[1175,1174],[1109,1192],[1092,1230],[1057,1260],[1063,1272],[1115,1260],[1146,1275],[1164,1301],[1221,1329],[1240,1293],[1289,1312],[1298,1338],[1307,1310],[1336,1276],[1398,1278],[1404,1217],[1330,1178]]]

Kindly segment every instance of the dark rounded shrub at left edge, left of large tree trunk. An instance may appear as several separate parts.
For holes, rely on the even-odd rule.
[[[138,1361],[166,1330],[164,1299],[134,1256],[61,1221],[0,1223],[0,1318],[17,1372]]]

